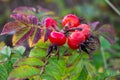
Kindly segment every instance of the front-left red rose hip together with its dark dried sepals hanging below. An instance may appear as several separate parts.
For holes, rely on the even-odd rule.
[[[58,55],[58,58],[59,58],[58,46],[62,46],[66,43],[66,36],[61,32],[52,31],[49,35],[49,40],[52,44],[48,48],[47,56],[50,56],[52,51],[56,50],[55,55]]]

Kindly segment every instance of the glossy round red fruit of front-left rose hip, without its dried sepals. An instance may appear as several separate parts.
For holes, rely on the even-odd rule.
[[[49,40],[53,44],[62,46],[66,42],[66,36],[61,32],[53,31],[50,33]]]

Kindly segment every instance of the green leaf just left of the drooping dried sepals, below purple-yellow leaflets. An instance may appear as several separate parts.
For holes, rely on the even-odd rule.
[[[39,47],[34,47],[29,54],[29,57],[43,58],[47,55],[47,50]]]

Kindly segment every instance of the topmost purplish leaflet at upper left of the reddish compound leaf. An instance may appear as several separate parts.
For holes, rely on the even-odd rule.
[[[13,10],[13,13],[20,13],[20,14],[34,14],[36,9],[33,7],[18,7]]]

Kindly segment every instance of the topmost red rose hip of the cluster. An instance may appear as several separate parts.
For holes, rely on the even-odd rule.
[[[68,26],[69,28],[77,27],[80,25],[80,19],[74,14],[68,14],[62,19],[62,26]]]

